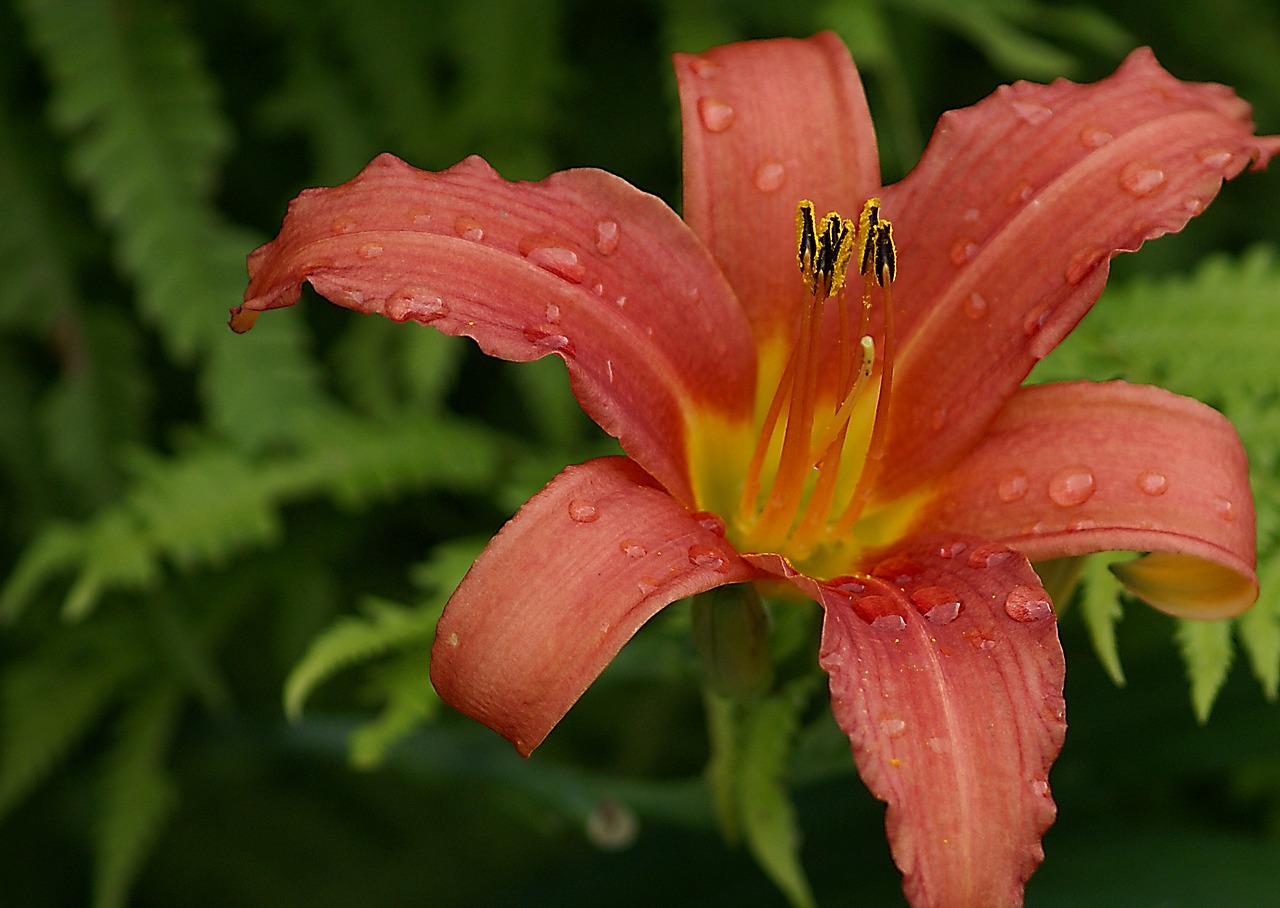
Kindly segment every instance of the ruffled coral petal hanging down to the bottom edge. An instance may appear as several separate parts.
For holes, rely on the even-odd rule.
[[[1053,822],[1065,663],[1030,565],[993,546],[918,539],[872,575],[819,585],[832,711],[888,802],[913,905],[1020,905]]]

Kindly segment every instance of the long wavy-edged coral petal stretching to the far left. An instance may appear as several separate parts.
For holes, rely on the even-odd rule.
[[[559,356],[586,412],[685,502],[692,415],[750,415],[755,348],[728,283],[671,209],[600,170],[509,183],[479,158],[428,173],[381,155],[300,195],[250,278],[237,330],[306,280],[492,356]]]

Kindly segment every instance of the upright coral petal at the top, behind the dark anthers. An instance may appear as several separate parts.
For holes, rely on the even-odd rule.
[[[876,133],[849,50],[829,32],[676,55],[685,220],[762,341],[790,339],[804,287],[796,202],[858,218],[879,187]]]

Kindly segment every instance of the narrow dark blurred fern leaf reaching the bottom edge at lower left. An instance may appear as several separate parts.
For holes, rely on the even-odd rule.
[[[177,807],[177,785],[164,762],[180,706],[180,688],[163,683],[134,699],[115,726],[93,830],[93,908],[127,904],[143,862]]]

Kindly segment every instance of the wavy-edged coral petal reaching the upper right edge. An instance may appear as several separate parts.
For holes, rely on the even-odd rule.
[[[1149,50],[1094,85],[1019,82],[945,114],[883,192],[900,353],[878,497],[937,475],[1093,305],[1110,259],[1180,231],[1280,137]]]

